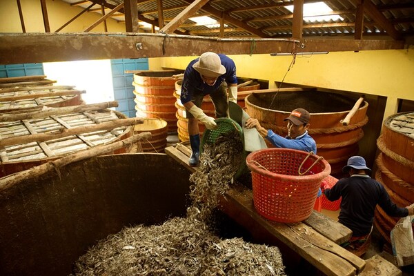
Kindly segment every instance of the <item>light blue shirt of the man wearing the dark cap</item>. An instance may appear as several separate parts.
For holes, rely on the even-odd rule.
[[[316,155],[316,142],[308,135],[308,131],[303,135],[296,137],[295,139],[288,139],[277,135],[273,130],[268,130],[266,139],[277,148],[292,148],[293,150],[303,150],[307,152],[313,151]]]

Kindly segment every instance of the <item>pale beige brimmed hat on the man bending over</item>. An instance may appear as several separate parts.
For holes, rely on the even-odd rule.
[[[201,55],[199,60],[193,64],[193,68],[206,77],[219,77],[226,73],[219,55],[214,52],[205,52]]]

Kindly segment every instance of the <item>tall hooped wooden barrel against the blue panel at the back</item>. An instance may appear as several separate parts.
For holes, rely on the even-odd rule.
[[[168,132],[177,132],[174,97],[175,79],[181,70],[142,71],[134,74],[135,110],[137,117],[160,118],[168,124]]]

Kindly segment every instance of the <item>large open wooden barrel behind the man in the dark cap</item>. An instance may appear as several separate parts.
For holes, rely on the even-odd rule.
[[[364,101],[348,126],[342,120],[351,111],[357,99],[331,92],[305,90],[301,92],[268,92],[248,95],[246,112],[260,124],[275,133],[287,134],[286,121],[295,108],[305,108],[311,113],[309,134],[317,144],[317,155],[331,165],[331,175],[342,177],[342,167],[349,157],[358,152],[357,142],[364,137],[362,126],[368,122]],[[268,143],[268,146],[272,146]]]

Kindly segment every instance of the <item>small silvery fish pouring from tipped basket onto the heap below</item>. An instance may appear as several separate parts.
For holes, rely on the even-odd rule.
[[[286,275],[275,246],[242,238],[221,239],[208,225],[242,159],[237,133],[206,144],[191,175],[193,204],[187,217],[159,226],[128,227],[90,248],[75,263],[75,275]]]

